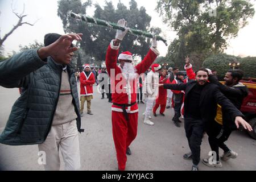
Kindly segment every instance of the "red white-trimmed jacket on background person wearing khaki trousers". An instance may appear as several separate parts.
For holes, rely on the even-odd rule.
[[[91,96],[93,94],[93,84],[95,78],[93,72],[87,77],[85,72],[80,73],[80,96]]]

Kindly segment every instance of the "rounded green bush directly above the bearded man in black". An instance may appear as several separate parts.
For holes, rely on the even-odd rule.
[[[231,69],[229,63],[232,63],[233,61],[238,61],[238,57],[220,53],[205,59],[203,67],[216,70],[218,78],[222,80],[226,72]]]

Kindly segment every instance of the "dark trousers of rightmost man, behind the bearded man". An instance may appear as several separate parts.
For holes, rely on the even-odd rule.
[[[212,151],[216,152],[216,160],[220,160],[218,148],[222,148],[224,152],[228,152],[229,148],[224,144],[226,140],[228,140],[230,134],[232,133],[231,130],[225,129],[222,125],[213,121],[210,123],[209,129],[207,130],[208,140],[210,144],[210,148]]]

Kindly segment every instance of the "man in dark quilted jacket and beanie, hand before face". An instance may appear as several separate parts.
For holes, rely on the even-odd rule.
[[[75,70],[69,65],[78,49],[73,40],[81,40],[81,34],[47,34],[45,47],[23,51],[0,63],[0,85],[24,87],[0,143],[39,144],[46,170],[60,169],[59,151],[66,170],[80,168],[78,132],[83,130]]]

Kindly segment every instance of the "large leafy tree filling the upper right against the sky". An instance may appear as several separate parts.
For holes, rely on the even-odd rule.
[[[181,68],[188,55],[197,69],[209,55],[223,52],[255,13],[245,0],[159,0],[157,10],[178,35],[167,57]]]

